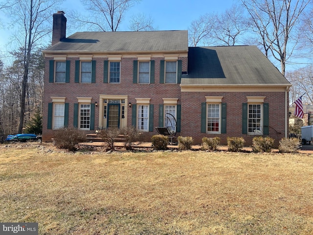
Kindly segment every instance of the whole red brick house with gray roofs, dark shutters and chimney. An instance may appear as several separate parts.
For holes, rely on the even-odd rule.
[[[63,126],[94,133],[130,125],[150,141],[169,123],[195,143],[287,137],[291,84],[257,47],[188,47],[185,30],[66,37],[66,21],[53,14],[52,46],[43,51],[43,141]]]

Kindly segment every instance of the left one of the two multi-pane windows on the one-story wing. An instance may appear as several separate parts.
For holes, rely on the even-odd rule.
[[[207,129],[208,133],[221,133],[221,104],[207,104]]]

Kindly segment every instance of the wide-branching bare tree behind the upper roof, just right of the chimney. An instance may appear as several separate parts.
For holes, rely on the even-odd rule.
[[[126,12],[140,0],[81,0],[88,14],[73,12],[73,21],[94,31],[117,31]]]

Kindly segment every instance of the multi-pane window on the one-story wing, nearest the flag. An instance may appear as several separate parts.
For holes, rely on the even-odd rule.
[[[262,131],[262,104],[248,104],[248,134],[259,134]]]

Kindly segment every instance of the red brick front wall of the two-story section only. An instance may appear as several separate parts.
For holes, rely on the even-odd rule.
[[[44,117],[43,117],[43,141],[51,141],[53,130],[47,130],[47,111],[48,103],[51,97],[66,97],[69,103],[69,127],[73,126],[73,110],[74,103],[77,103],[77,97],[92,97],[91,102],[99,103],[99,95],[128,95],[128,102],[136,103],[135,98],[151,98],[150,104],[154,104],[154,126],[158,126],[159,104],[163,103],[162,98],[178,98],[180,104],[180,87],[179,84],[160,84],[159,71],[160,60],[164,58],[151,58],[155,60],[155,83],[154,84],[133,84],[133,61],[136,58],[121,59],[120,83],[110,84],[103,83],[103,58],[93,58],[96,60],[96,83],[80,84],[75,83],[75,60],[79,58],[67,58],[70,60],[70,82],[69,83],[49,83],[49,60],[45,59],[45,92],[44,92]],[[182,60],[182,71],[187,70],[187,58],[179,58]],[[99,104],[100,105],[100,104]],[[99,123],[99,107],[95,108],[95,128]],[[127,124],[132,125],[132,109],[128,109]],[[94,131],[88,131],[94,133]],[[151,140],[157,132],[144,133],[143,137],[147,141]]]

